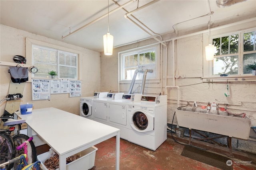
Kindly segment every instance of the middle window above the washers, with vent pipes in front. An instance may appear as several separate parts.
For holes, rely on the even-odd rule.
[[[120,80],[132,80],[134,72],[138,70],[152,69],[152,73],[147,74],[147,79],[158,78],[158,45],[142,47],[140,49],[129,50],[120,53]],[[136,80],[141,80],[143,73],[137,74]]]

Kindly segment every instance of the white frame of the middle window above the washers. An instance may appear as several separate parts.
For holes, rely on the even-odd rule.
[[[125,69],[124,56],[138,54],[138,60],[139,60],[139,54],[140,54],[139,52],[146,53],[146,51],[149,52],[150,49],[155,49],[155,54],[156,54],[155,63],[154,64],[142,64],[142,66],[155,65],[153,72],[154,71],[156,72],[156,74],[155,74],[156,76],[155,76],[155,78],[147,77],[146,82],[150,82],[150,83],[159,83],[160,82],[160,44],[156,44],[156,45],[147,45],[147,46],[137,47],[135,49],[128,49],[126,51],[120,51],[118,53],[118,80],[119,80],[119,83],[129,84],[132,81],[132,80],[123,79],[124,78],[124,69]],[[139,63],[138,63],[137,67],[139,67]],[[142,79],[138,79],[138,80],[135,80],[135,83],[141,83],[141,81],[142,81]]]

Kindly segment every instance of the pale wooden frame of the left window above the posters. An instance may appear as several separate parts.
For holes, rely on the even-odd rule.
[[[43,41],[39,41],[39,40],[35,40],[35,39],[31,39],[31,38],[26,38],[26,58],[27,58],[27,63],[31,63],[32,65],[34,65],[34,59],[33,59],[33,55],[32,55],[32,45],[36,45],[39,47],[45,47],[46,49],[55,49],[58,53],[58,51],[61,51],[62,53],[70,53],[70,54],[76,54],[77,58],[76,58],[76,75],[77,78],[58,78],[59,79],[68,79],[68,80],[80,80],[80,72],[81,72],[81,67],[80,67],[80,63],[82,63],[80,56],[80,51],[77,51],[75,49],[70,49],[67,47],[62,47],[59,45],[55,45],[55,44],[51,44],[51,43],[47,43],[47,42],[43,42]],[[58,57],[58,56],[57,56]],[[59,60],[58,63],[56,63],[56,65],[58,66],[57,68],[57,72],[60,69],[59,68]],[[44,77],[35,77],[34,74],[32,74],[32,78],[44,78]],[[47,79],[47,77],[45,77],[45,79]]]

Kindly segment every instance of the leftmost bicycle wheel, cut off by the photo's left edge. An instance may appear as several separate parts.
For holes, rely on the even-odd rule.
[[[12,137],[5,132],[2,132],[0,137],[0,163],[11,160],[14,156],[14,143]],[[11,165],[6,165],[6,169],[12,168]]]

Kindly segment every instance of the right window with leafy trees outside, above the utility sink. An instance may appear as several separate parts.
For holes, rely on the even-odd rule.
[[[216,53],[212,62],[212,75],[251,73],[246,70],[246,65],[256,61],[255,36],[254,29],[213,38]]]

